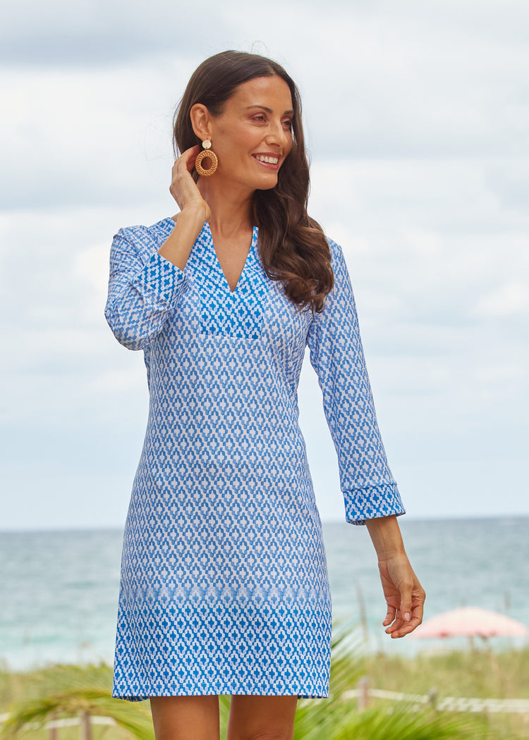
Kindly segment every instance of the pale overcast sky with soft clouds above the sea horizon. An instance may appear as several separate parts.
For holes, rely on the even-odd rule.
[[[176,213],[171,119],[233,48],[302,92],[309,212],[345,252],[382,438],[413,519],[529,515],[524,0],[4,0],[0,529],[122,528],[141,352],[104,320],[120,226]],[[323,520],[345,519],[316,375]]]

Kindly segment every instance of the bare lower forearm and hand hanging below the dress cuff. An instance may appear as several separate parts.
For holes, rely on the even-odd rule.
[[[396,517],[365,522],[379,559],[387,613],[382,624],[391,637],[404,637],[422,622],[425,591],[413,572]]]

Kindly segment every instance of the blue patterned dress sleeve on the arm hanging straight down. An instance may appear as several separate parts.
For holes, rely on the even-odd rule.
[[[323,311],[314,314],[307,344],[338,454],[345,518],[365,524],[405,510],[376,421],[347,265],[340,246],[329,244],[334,287]]]

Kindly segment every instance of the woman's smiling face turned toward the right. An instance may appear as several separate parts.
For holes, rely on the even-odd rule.
[[[292,148],[293,104],[281,77],[256,77],[240,84],[210,119],[211,148],[219,158],[215,178],[250,190],[277,184]]]

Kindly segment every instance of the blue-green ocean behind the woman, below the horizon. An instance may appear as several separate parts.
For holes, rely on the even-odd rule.
[[[427,593],[425,619],[458,606],[508,614],[529,626],[529,518],[399,523]],[[465,645],[392,640],[376,556],[364,527],[323,524],[333,618],[357,628],[369,650],[409,656]],[[122,531],[0,533],[0,662],[8,670],[50,662],[111,663]],[[493,647],[520,641],[493,639]]]

